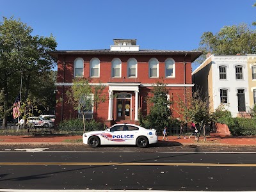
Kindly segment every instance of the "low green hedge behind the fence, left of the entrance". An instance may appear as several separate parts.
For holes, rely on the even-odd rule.
[[[61,122],[58,126],[60,130],[76,130],[76,131],[83,131],[84,124],[82,119],[70,119],[70,120],[64,120]],[[104,124],[101,122],[97,122],[95,120],[86,120],[85,121],[85,131],[97,131],[97,130],[103,130]]]

